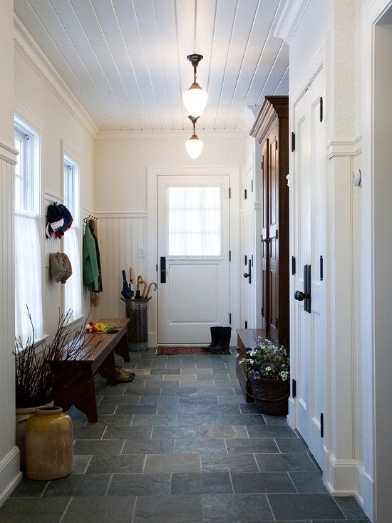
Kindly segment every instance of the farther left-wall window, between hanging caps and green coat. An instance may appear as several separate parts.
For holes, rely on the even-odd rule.
[[[72,266],[72,274],[64,284],[64,309],[72,310],[72,319],[82,316],[81,293],[81,255],[79,249],[79,169],[78,164],[70,157],[64,156],[63,189],[64,204],[71,212],[73,222],[71,229],[64,234],[64,252]]]

